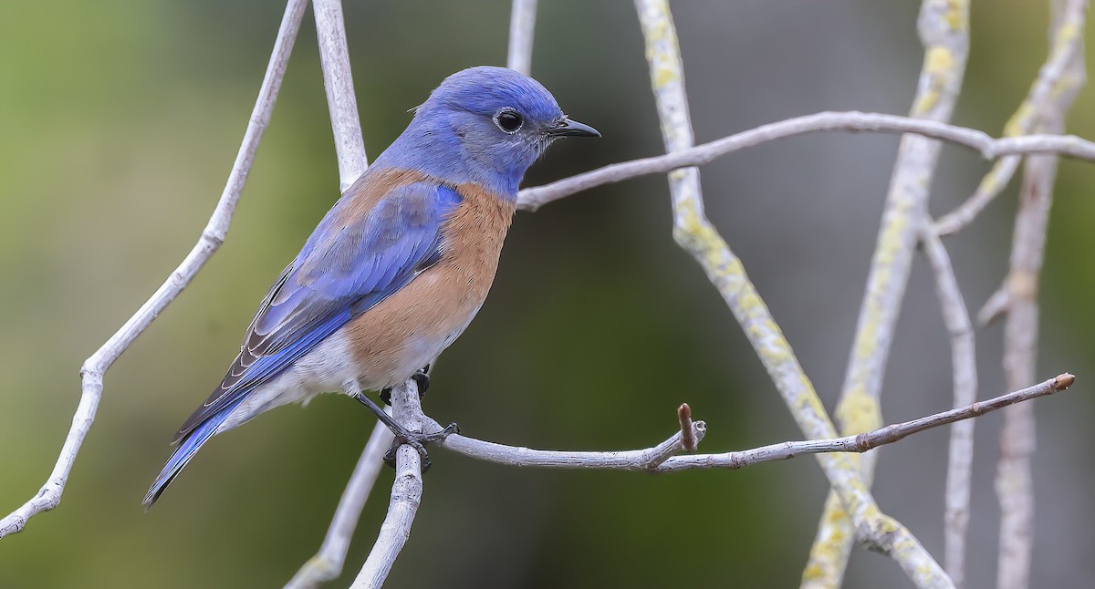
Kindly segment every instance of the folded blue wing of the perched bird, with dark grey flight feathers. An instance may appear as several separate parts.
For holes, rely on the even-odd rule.
[[[176,441],[436,264],[441,224],[460,200],[427,183],[393,188],[364,213],[353,195],[341,199],[274,284],[223,382]]]

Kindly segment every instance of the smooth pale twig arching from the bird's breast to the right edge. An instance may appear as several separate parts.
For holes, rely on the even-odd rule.
[[[525,188],[520,193],[518,206],[525,210],[535,210],[553,200],[604,184],[703,165],[746,148],[819,131],[922,135],[970,148],[987,160],[1010,154],[1058,153],[1095,161],[1095,142],[1072,135],[1027,135],[994,139],[983,131],[933,120],[856,111],[825,112],[770,123],[672,153],[612,163],[551,184]]]

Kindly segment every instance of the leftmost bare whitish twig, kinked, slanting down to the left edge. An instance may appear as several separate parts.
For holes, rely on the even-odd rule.
[[[300,27],[300,19],[307,7],[306,0],[289,0],[286,5],[269,65],[266,67],[266,76],[263,78],[258,99],[255,101],[255,107],[247,123],[247,130],[243,134],[243,142],[235,155],[232,171],[228,175],[224,190],[220,195],[220,200],[217,201],[217,207],[214,209],[208,224],[201,231],[201,238],[152,297],[95,354],[84,361],[80,370],[82,379],[80,404],[72,417],[72,427],[65,438],[65,446],[61,448],[53,473],[37,495],[0,520],[0,538],[22,531],[30,518],[57,507],[76,461],[77,452],[80,451],[83,438],[95,419],[95,409],[103,395],[103,374],[134,339],[148,328],[152,320],[186,288],[186,285],[223,243],[232,213],[235,212],[235,203],[239,200],[240,192],[247,180],[247,172],[251,171],[251,162],[254,160],[258,141],[262,139],[266,125],[269,124],[274,101],[281,86],[281,78],[285,76],[286,65],[289,61],[289,53],[292,50],[297,30]]]

